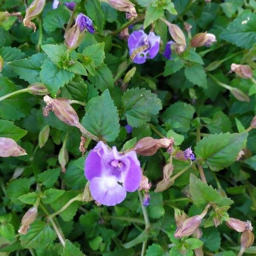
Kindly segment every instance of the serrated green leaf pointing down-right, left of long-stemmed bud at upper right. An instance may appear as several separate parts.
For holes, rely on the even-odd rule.
[[[186,66],[185,76],[193,84],[205,89],[207,88],[206,73],[202,65],[196,63],[191,66]]]

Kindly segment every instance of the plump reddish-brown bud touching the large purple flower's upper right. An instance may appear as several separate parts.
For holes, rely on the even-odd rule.
[[[136,153],[142,156],[152,156],[157,152],[158,148],[158,140],[151,137],[142,138],[134,146]]]

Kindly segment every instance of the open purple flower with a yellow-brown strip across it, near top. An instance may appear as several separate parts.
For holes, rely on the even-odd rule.
[[[129,54],[134,63],[143,64],[147,58],[154,58],[159,51],[160,36],[143,30],[134,31],[128,38]]]

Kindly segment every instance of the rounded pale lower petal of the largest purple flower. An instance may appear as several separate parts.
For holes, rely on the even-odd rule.
[[[115,177],[94,177],[90,181],[90,193],[101,204],[113,206],[124,201],[126,191]]]

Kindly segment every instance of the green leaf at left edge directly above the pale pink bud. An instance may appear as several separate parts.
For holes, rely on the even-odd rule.
[[[0,137],[7,137],[18,141],[26,134],[27,131],[14,125],[14,122],[0,119]]]

